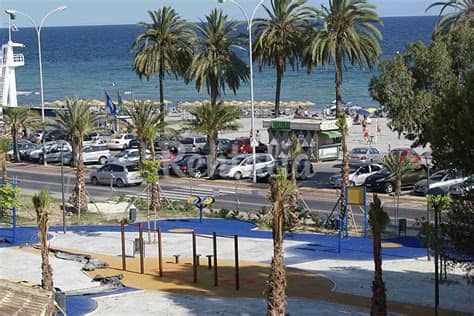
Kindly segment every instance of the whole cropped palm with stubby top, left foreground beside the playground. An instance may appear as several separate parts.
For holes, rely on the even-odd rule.
[[[53,271],[49,264],[48,249],[48,209],[51,204],[48,189],[44,188],[38,194],[35,194],[32,200],[36,211],[41,250],[41,287],[47,291],[53,291]]]

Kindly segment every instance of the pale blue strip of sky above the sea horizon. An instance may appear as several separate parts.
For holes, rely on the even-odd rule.
[[[248,11],[252,11],[258,0],[238,0]],[[267,0],[268,3],[270,0]],[[379,15],[386,16],[422,16],[426,7],[434,0],[371,0],[377,6]],[[327,0],[308,0],[319,6]],[[190,21],[199,21],[215,7],[222,7],[233,19],[242,20],[242,13],[231,4],[219,4],[218,0],[0,0],[0,10],[15,9],[30,15],[37,23],[49,11],[66,5],[63,12],[48,17],[45,26],[68,25],[112,25],[135,24],[147,20],[147,10],[157,10],[163,5],[172,6],[181,17]],[[262,12],[260,9],[259,12]],[[429,15],[438,12],[432,10]],[[257,14],[258,16],[258,14]],[[0,15],[0,27],[7,27],[6,16]],[[31,26],[30,22],[17,16],[17,26]]]

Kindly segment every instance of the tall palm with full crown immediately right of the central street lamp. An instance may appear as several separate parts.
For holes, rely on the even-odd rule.
[[[254,50],[262,69],[273,66],[276,71],[275,116],[280,112],[281,81],[287,65],[298,65],[308,20],[314,11],[304,7],[306,0],[272,0],[271,8],[263,6],[268,19],[255,20],[257,34]]]

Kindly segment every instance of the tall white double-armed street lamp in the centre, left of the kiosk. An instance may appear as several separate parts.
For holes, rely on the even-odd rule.
[[[251,131],[251,145],[252,145],[252,181],[253,183],[257,182],[257,170],[255,169],[256,162],[256,153],[255,150],[257,147],[257,139],[255,138],[255,104],[254,104],[254,93],[253,93],[253,48],[252,48],[252,24],[255,18],[255,13],[257,13],[258,8],[265,2],[265,0],[260,0],[258,4],[253,9],[252,15],[249,16],[247,11],[242,7],[240,3],[235,0],[218,0],[219,3],[230,2],[237,6],[245,19],[247,20],[247,30],[249,32],[249,67],[250,67],[250,105],[252,110],[252,115],[250,117],[250,131]]]

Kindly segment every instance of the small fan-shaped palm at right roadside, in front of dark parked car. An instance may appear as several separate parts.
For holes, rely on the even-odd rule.
[[[407,173],[410,169],[413,169],[413,163],[410,160],[409,156],[402,157],[401,151],[394,151],[390,153],[388,156],[384,157],[382,160],[382,165],[393,175],[395,179],[395,194],[397,195],[397,208],[396,208],[396,216],[395,218],[398,219],[398,209],[400,205],[400,193],[402,190],[402,177]],[[387,182],[385,184],[385,192],[390,193],[393,191],[393,184]]]

